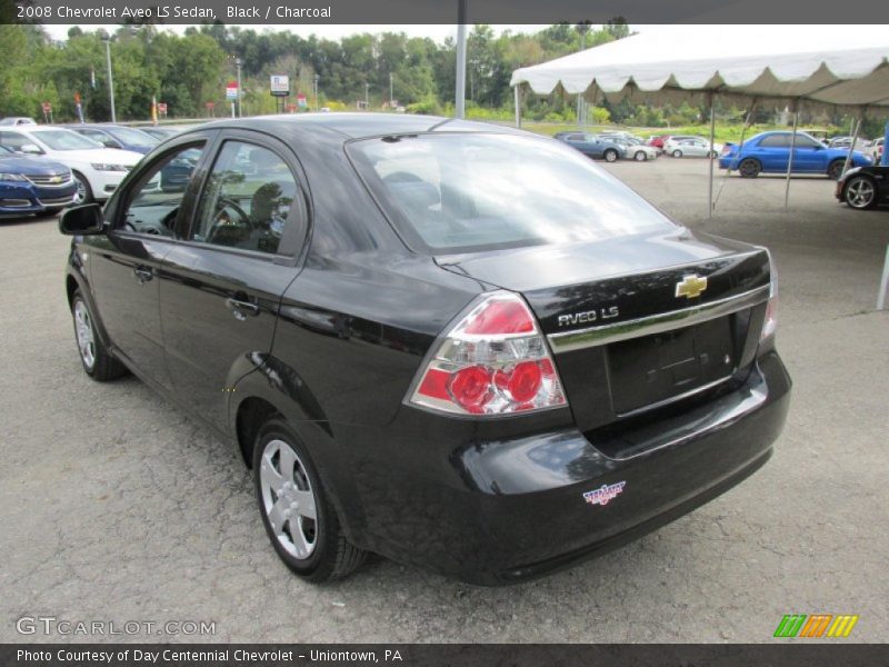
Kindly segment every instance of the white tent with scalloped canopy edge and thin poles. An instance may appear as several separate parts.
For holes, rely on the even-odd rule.
[[[838,106],[889,113],[887,26],[660,26],[639,34],[512,72],[516,123],[520,89],[561,87],[596,103],[715,97],[751,104]],[[797,113],[795,113],[796,127]],[[860,122],[858,123],[860,128]],[[858,129],[856,129],[856,138]],[[796,133],[793,135],[796,139]],[[791,151],[791,156],[792,156]],[[792,162],[792,157],[791,157]],[[788,166],[788,188],[792,163]],[[709,206],[712,213],[712,161]],[[787,201],[787,199],[786,199]]]

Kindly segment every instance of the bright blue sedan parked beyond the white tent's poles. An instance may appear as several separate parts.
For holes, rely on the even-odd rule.
[[[743,142],[743,147],[726,143],[719,158],[720,169],[731,169],[745,178],[760,173],[787,173],[790,141],[793,132],[761,132]],[[848,148],[828,148],[815,137],[797,132],[793,148],[793,173],[823,173],[837,180],[842,173]],[[850,167],[867,167],[870,158],[852,152]]]

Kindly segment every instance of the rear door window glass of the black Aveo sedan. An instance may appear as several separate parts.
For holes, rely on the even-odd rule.
[[[192,240],[278,252],[297,179],[276,152],[227,141],[207,179]]]

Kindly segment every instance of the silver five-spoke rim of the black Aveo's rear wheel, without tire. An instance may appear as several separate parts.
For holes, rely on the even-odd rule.
[[[318,509],[299,455],[283,440],[269,440],[262,451],[259,480],[274,539],[293,558],[308,559],[318,544]]]

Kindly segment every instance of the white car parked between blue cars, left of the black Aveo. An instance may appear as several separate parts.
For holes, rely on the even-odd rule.
[[[71,130],[44,126],[0,127],[0,146],[69,167],[77,181],[76,205],[108,199],[142,159],[140,153],[104,148]]]

